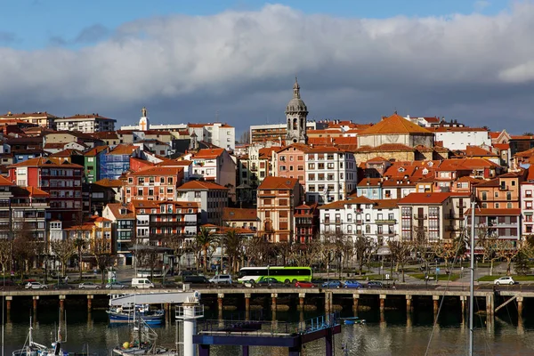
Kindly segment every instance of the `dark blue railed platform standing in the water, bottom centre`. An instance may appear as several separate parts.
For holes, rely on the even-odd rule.
[[[209,356],[211,345],[238,345],[248,356],[250,346],[287,347],[289,356],[300,356],[303,344],[321,338],[326,342],[326,355],[332,356],[333,336],[341,332],[336,314],[328,314],[287,323],[260,320],[206,320],[202,330],[193,336],[199,356]]]

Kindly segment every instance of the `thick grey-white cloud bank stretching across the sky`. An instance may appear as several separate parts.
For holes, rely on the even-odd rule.
[[[142,19],[77,51],[0,48],[0,110],[125,117],[142,102],[161,116],[180,112],[184,121],[224,107],[230,123],[248,125],[238,117],[283,115],[285,100],[275,106],[273,98],[285,90],[288,100],[297,74],[313,117],[368,121],[394,107],[426,114],[436,106],[446,112],[432,115],[451,117],[449,108],[464,101],[476,108],[489,93],[505,105],[515,83],[534,79],[532,33],[530,2],[492,17],[342,19],[272,4]],[[369,94],[330,106],[337,91]]]

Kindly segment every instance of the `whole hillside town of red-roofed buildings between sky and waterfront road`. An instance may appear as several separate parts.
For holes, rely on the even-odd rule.
[[[287,93],[286,120],[239,142],[222,122],[152,125],[146,108],[120,128],[1,115],[0,263],[103,271],[150,251],[152,269],[238,271],[271,247],[271,263],[310,265],[320,242],[333,264],[449,258],[469,249],[473,207],[477,254],[510,262],[530,243],[534,134],[397,112],[312,121],[296,79]]]

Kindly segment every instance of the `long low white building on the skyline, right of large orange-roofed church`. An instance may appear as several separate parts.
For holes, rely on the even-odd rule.
[[[490,132],[476,127],[432,127],[434,142],[443,142],[449,150],[465,150],[467,146],[491,146]]]

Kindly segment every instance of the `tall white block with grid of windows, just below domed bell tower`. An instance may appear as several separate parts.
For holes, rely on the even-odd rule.
[[[320,204],[346,199],[358,182],[351,152],[320,147],[305,153],[306,201]]]

